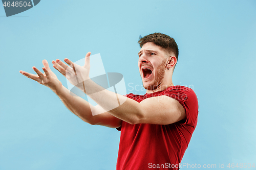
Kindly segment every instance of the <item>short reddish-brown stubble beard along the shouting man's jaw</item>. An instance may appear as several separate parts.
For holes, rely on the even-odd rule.
[[[143,84],[143,87],[146,90],[155,90],[161,84],[161,82],[164,78],[165,62],[166,61],[163,60],[163,62],[157,67],[155,81],[152,84],[149,84],[147,86],[144,86],[144,84]],[[152,74],[153,74],[153,72],[152,72]]]

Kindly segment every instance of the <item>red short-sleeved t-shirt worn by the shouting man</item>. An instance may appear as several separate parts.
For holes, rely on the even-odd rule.
[[[127,94],[137,102],[153,96],[166,95],[184,107],[186,118],[169,125],[136,124],[122,121],[117,170],[179,169],[197,125],[198,100],[195,92],[184,86],[168,87],[164,91],[145,95]],[[175,167],[176,166],[176,167]]]

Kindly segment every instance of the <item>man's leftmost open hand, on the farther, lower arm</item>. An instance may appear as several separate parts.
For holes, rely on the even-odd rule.
[[[24,76],[37,81],[38,83],[45,85],[49,87],[54,92],[62,87],[61,82],[58,80],[57,76],[52,72],[52,70],[49,67],[49,64],[47,60],[42,60],[42,64],[44,67],[42,69],[44,70],[44,74],[42,74],[41,71],[39,71],[36,67],[32,67],[37,75],[30,74],[26,71],[20,70],[19,72],[23,74]]]

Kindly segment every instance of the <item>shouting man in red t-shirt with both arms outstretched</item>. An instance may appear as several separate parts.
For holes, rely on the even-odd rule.
[[[42,61],[44,74],[36,67],[32,68],[37,75],[25,71],[20,73],[53,90],[63,104],[84,122],[120,130],[116,169],[179,169],[197,125],[197,97],[192,89],[174,86],[172,82],[179,53],[173,38],[154,33],[140,37],[139,44],[138,66],[145,95],[122,96],[93,82],[89,78],[90,52],[84,66],[78,66],[69,59],[64,61],[71,67],[58,59],[52,61],[54,68],[100,107],[92,107],[87,101],[70,95],[46,60]],[[113,102],[117,98],[118,106]],[[102,109],[109,111],[92,115],[92,112]]]

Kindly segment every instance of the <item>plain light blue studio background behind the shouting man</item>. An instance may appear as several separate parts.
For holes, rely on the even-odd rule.
[[[120,132],[84,123],[19,70],[91,51],[106,72],[123,74],[127,93],[145,93],[133,89],[142,87],[137,41],[155,32],[175,38],[173,82],[198,96],[198,126],[182,163],[256,163],[255,9],[249,0],[55,0],[6,17],[1,6],[0,169],[115,169]]]

